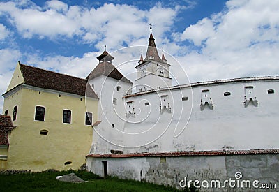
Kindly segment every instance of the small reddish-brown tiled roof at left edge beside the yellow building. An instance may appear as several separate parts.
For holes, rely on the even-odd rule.
[[[8,143],[8,131],[12,131],[13,122],[10,116],[0,115],[0,145],[9,145]]]

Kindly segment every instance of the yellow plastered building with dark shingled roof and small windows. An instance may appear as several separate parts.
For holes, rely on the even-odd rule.
[[[0,149],[3,168],[77,170],[86,163],[98,119],[98,96],[86,79],[19,62],[3,97],[3,114],[15,126]]]

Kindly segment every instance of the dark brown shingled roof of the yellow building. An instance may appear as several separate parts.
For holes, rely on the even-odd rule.
[[[93,89],[86,85],[86,79],[64,75],[53,71],[47,71],[42,68],[36,68],[24,64],[20,64],[20,70],[22,72],[25,84],[31,85],[33,87],[53,89],[70,94],[98,98]]]

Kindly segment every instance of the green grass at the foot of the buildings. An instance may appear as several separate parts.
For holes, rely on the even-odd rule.
[[[55,178],[75,172],[78,177],[89,181],[86,183],[73,184],[60,182]],[[15,175],[0,175],[0,191],[177,191],[174,188],[123,180],[115,177],[103,179],[91,172],[85,171],[62,171],[62,172],[37,172]]]

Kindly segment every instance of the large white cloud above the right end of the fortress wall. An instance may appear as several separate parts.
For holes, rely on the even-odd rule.
[[[199,47],[179,58],[190,80],[279,75],[279,1],[231,0],[226,6],[174,34]]]

